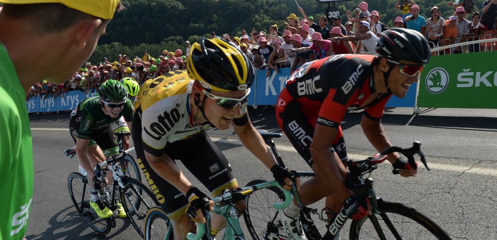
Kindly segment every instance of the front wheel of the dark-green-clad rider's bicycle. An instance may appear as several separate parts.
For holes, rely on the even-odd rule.
[[[123,180],[124,189],[121,189],[121,203],[128,215],[131,225],[143,238],[143,227],[147,212],[154,206],[159,206],[159,201],[152,191],[142,182],[126,178]]]

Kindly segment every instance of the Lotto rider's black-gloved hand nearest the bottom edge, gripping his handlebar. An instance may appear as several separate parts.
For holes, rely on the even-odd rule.
[[[209,202],[208,211],[214,211],[214,202],[196,187],[188,190],[186,198],[188,199],[188,206],[186,207],[185,214],[195,223],[205,223],[204,212],[206,211],[206,202]]]

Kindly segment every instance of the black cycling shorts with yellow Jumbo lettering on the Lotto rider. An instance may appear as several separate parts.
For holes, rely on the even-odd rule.
[[[140,144],[142,142],[141,124],[142,120],[136,114],[131,128],[131,137],[135,144],[138,165],[167,216],[170,219],[177,219],[184,214],[188,200],[178,189],[159,176],[146,160],[143,146]],[[228,160],[206,132],[193,135],[188,139],[168,142],[164,153],[171,159],[180,160],[213,196],[218,196],[222,190],[238,185]]]

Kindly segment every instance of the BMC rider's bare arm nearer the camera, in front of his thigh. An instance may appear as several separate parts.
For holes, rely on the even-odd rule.
[[[352,192],[345,186],[345,166],[338,159],[336,152],[330,151],[331,142],[336,137],[338,130],[332,127],[316,124],[313,140],[311,142],[311,156],[314,159],[313,167],[316,175],[329,183],[331,190],[337,194],[340,202],[345,201]]]

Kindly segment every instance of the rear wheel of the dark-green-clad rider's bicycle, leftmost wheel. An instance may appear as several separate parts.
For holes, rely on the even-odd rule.
[[[95,232],[106,235],[110,232],[110,223],[108,219],[98,217],[95,211],[91,208],[90,192],[87,186],[86,176],[79,172],[73,172],[68,177],[68,189],[71,200],[73,201],[78,214],[83,217],[86,222]],[[78,198],[78,200],[76,199]]]

